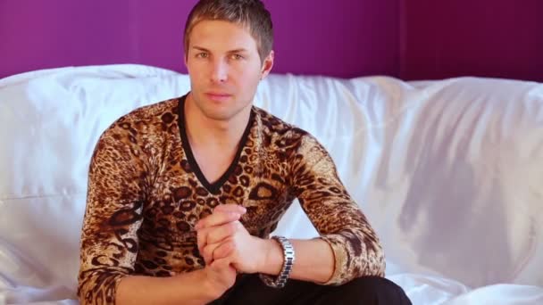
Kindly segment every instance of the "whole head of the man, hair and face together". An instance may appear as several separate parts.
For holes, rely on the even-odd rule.
[[[259,0],[201,0],[185,32],[190,108],[208,120],[246,118],[273,66],[270,13]]]

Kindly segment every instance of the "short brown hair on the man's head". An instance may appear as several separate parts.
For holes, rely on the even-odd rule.
[[[261,62],[273,48],[272,16],[260,0],[200,0],[188,14],[185,24],[185,57],[192,29],[200,21],[229,21],[243,26],[251,33],[258,47]]]

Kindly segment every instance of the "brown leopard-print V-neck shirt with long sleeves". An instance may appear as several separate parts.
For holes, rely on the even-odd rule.
[[[185,96],[130,112],[96,144],[81,235],[82,303],[114,303],[123,276],[203,268],[194,227],[224,203],[246,207],[241,223],[267,238],[297,198],[334,253],[325,284],[384,276],[377,235],[313,136],[254,106],[235,160],[209,183],[188,145]]]

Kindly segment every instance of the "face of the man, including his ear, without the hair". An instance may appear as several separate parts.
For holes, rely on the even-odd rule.
[[[272,69],[273,53],[261,62],[249,31],[229,21],[200,21],[185,58],[191,97],[212,120],[230,120],[251,107],[256,87]]]

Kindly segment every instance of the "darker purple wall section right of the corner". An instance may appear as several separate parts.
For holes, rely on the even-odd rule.
[[[543,1],[400,1],[402,78],[543,82]]]

